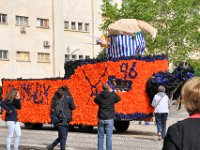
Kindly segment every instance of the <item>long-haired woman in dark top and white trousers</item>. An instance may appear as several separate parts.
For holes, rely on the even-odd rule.
[[[21,109],[20,95],[16,88],[12,88],[11,91],[6,95],[6,98],[1,103],[2,108],[6,111],[6,124],[8,126],[8,137],[6,143],[6,149],[10,150],[13,133],[15,132],[16,138],[14,143],[14,150],[18,150],[21,127],[18,122],[17,110]]]

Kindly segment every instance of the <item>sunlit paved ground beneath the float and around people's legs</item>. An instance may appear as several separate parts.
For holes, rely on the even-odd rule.
[[[184,109],[171,110],[167,126],[182,120],[187,116]],[[45,125],[42,130],[27,130],[22,124],[22,139],[20,150],[43,150],[56,137],[57,131],[51,125]],[[5,122],[0,121],[0,150],[5,149],[7,128]],[[139,125],[137,121],[131,122],[127,132],[113,134],[113,150],[159,150],[162,142],[157,141],[154,122],[150,125]],[[59,149],[59,147],[57,147]],[[94,150],[97,149],[97,129],[92,133],[80,133],[78,129],[69,132],[67,150]]]

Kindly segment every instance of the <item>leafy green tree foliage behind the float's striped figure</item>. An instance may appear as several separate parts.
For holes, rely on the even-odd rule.
[[[157,28],[154,41],[145,34],[147,54],[165,53],[171,62],[179,63],[200,47],[200,0],[123,0],[121,8],[103,0],[101,8],[103,32],[121,18],[144,20]]]

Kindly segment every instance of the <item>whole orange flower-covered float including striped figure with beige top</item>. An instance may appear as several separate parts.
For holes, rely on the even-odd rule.
[[[3,79],[2,97],[12,87],[18,88],[22,102],[19,121],[26,128],[41,128],[51,123],[50,106],[55,91],[66,86],[77,106],[70,125],[91,130],[98,122],[98,107],[93,100],[103,83],[115,79],[115,92],[121,97],[115,106],[115,129],[126,131],[132,120],[150,120],[154,109],[150,105],[152,98],[147,93],[147,81],[161,71],[167,72],[168,59],[165,55],[143,55],[143,31],[156,37],[157,30],[144,21],[119,20],[108,27],[108,37],[97,40],[107,48],[105,58],[65,62],[64,78]],[[151,89],[148,91],[152,94]],[[5,111],[2,118],[5,119]]]

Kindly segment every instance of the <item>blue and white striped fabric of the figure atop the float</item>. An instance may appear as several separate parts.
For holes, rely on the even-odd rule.
[[[112,35],[110,39],[110,48],[106,50],[107,57],[119,58],[144,54],[145,40],[143,33],[137,33],[134,37],[130,35]]]

